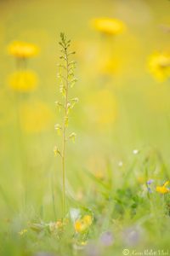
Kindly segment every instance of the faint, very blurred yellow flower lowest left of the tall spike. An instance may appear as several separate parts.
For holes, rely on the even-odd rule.
[[[26,132],[45,131],[51,126],[53,114],[43,102],[23,103],[20,108],[21,127]]]

